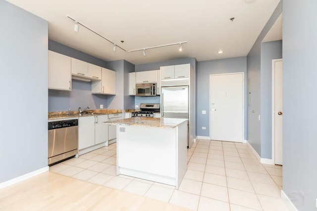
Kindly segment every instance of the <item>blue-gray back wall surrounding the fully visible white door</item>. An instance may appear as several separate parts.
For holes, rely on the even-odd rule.
[[[210,75],[222,73],[245,73],[245,96],[247,95],[247,57],[235,57],[197,62],[197,135],[210,136]],[[246,108],[245,97],[245,108]],[[205,110],[206,114],[202,114]],[[245,109],[246,122],[246,109]],[[245,123],[245,131],[246,131]],[[206,129],[202,129],[206,127]],[[245,132],[246,134],[246,132]],[[246,137],[245,137],[246,138]]]

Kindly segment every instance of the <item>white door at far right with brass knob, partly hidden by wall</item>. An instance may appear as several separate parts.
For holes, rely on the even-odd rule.
[[[275,164],[283,164],[283,62],[272,61],[273,75],[273,140]]]

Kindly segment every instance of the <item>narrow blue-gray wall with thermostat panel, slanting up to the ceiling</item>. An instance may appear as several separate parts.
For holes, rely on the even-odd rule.
[[[248,56],[247,56],[247,78],[250,81],[250,86],[248,92],[251,92],[248,99],[250,104],[248,105],[247,111],[247,137],[249,143],[261,155],[261,127],[259,121],[259,115],[261,114],[260,104],[262,100],[261,97],[261,43],[266,36],[267,32],[273,26],[277,18],[282,13],[282,1],[279,2],[275,11],[265,24],[262,32],[257,38],[256,42],[252,46]]]

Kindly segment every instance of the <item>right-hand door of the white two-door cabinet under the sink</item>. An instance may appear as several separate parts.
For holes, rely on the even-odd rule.
[[[108,125],[104,124],[108,122],[108,115],[95,116],[95,120],[95,144],[108,141]]]

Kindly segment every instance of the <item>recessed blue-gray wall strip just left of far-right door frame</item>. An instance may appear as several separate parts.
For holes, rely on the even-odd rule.
[[[282,58],[282,41],[261,44],[261,158],[272,158],[272,59]]]

